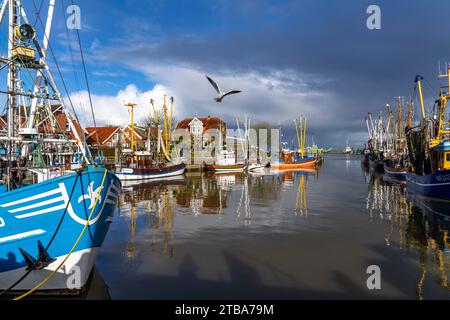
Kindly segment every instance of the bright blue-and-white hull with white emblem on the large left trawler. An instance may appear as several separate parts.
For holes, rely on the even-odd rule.
[[[95,263],[117,207],[121,184],[102,167],[71,174],[0,194],[0,290],[9,288],[28,267],[20,249],[37,259],[38,241],[56,259],[33,270],[13,290],[28,290],[66,263],[42,289],[81,289]],[[100,187],[105,176],[103,187]],[[95,204],[97,194],[100,193]],[[92,215],[91,215],[92,212]],[[73,253],[68,253],[88,227]],[[68,283],[74,276],[72,284]]]

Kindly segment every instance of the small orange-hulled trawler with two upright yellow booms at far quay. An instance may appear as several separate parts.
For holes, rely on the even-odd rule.
[[[294,120],[298,151],[281,150],[280,159],[270,162],[270,167],[278,170],[314,169],[317,163],[317,156],[308,156],[306,149],[306,118]]]

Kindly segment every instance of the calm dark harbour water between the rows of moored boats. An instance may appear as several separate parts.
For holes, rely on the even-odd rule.
[[[313,173],[188,173],[124,188],[96,269],[112,299],[449,299],[448,217],[358,156]]]

